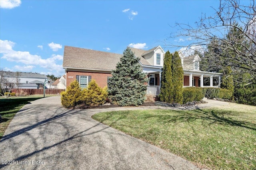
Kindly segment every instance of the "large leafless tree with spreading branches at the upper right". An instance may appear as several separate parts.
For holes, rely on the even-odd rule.
[[[243,3],[243,4],[242,4]],[[170,38],[190,39],[186,47],[204,51],[208,65],[230,66],[233,74],[250,74],[256,81],[256,4],[254,0],[220,0],[213,16],[202,16],[196,26],[177,23]],[[182,47],[170,44],[172,47]],[[200,49],[200,48],[201,49]],[[204,59],[202,59],[204,61]]]

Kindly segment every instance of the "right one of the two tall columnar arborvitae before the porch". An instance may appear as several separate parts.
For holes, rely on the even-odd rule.
[[[172,86],[174,103],[182,104],[183,95],[183,68],[181,59],[176,51],[172,57]]]

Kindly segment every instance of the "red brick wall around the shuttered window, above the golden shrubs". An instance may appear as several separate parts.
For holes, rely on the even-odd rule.
[[[102,88],[108,85],[108,77],[112,76],[110,73],[68,71],[67,86],[70,86],[70,83],[76,80],[76,75],[92,76],[92,79],[96,80],[96,83]]]

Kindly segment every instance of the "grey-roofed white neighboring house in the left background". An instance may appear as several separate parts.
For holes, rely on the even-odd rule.
[[[0,76],[3,76],[6,82],[13,84],[12,87],[7,88],[40,88],[43,87],[45,79],[47,76],[39,73],[32,72],[2,72]],[[1,79],[2,80],[2,79]],[[36,86],[35,86],[36,85]]]

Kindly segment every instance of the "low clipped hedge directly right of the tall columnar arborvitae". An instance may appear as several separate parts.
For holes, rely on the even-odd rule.
[[[205,90],[200,87],[183,88],[183,104],[192,101],[200,101],[205,96]]]

